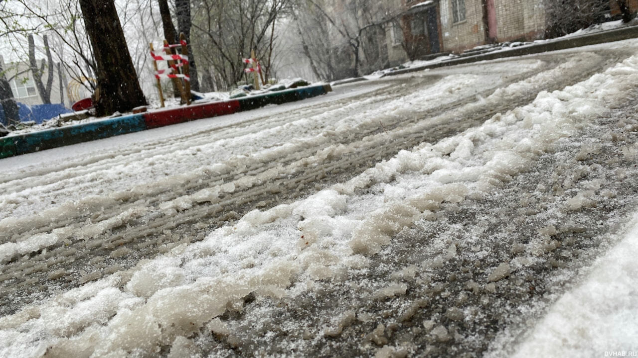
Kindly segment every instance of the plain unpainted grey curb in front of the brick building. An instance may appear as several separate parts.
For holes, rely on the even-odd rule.
[[[631,38],[638,38],[638,26],[628,26],[621,29],[599,31],[594,32],[593,34],[574,36],[572,38],[549,40],[545,43],[533,43],[531,45],[515,47],[510,50],[488,52],[487,54],[457,57],[456,59],[436,62],[424,66],[399,69],[397,71],[386,73],[382,77],[403,75],[404,73],[423,71],[424,69],[441,68],[447,66],[455,66],[458,64],[468,64],[472,62],[488,61],[494,59],[504,59],[507,57],[540,54],[541,52],[566,50],[567,48],[582,47],[587,45],[598,45],[599,43],[622,41],[623,39]]]

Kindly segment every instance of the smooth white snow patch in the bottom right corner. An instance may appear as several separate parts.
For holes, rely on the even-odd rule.
[[[638,216],[510,357],[630,357],[638,351]],[[595,322],[595,324],[592,324]],[[624,352],[624,353],[623,353]],[[612,355],[613,354],[613,355]]]

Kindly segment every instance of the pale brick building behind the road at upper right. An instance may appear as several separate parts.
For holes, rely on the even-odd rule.
[[[577,19],[577,26],[604,20],[601,10],[607,16],[610,10],[611,15],[619,13],[616,0],[574,0],[567,5],[551,6],[551,11],[545,8],[544,0],[389,1],[395,1],[395,6],[402,9],[402,15],[386,27],[392,66],[408,60],[427,59],[430,54],[459,53],[489,43],[545,38],[556,17],[570,21],[570,15],[556,10],[558,6],[578,9],[577,15],[581,18]],[[638,10],[638,0],[628,0],[628,4],[632,11]],[[587,6],[592,6],[595,11],[585,13]]]

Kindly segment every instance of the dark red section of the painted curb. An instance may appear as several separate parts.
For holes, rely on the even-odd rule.
[[[239,111],[239,101],[194,104],[178,108],[143,113],[148,129],[191,120],[229,115]]]

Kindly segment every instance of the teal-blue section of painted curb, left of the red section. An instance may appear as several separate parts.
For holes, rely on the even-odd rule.
[[[145,129],[144,117],[141,114],[137,114],[31,132],[14,138],[17,154],[25,154],[120,134],[144,131]]]

